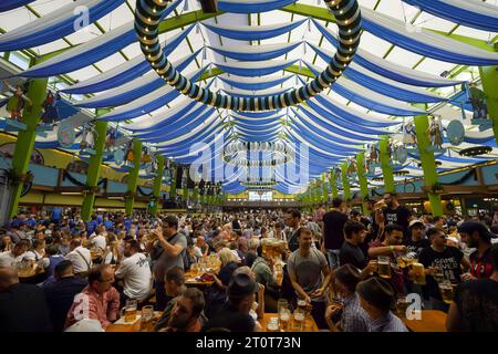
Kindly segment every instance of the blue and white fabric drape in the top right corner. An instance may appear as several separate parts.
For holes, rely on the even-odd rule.
[[[479,0],[403,0],[425,12],[483,31],[498,32],[498,7]]]

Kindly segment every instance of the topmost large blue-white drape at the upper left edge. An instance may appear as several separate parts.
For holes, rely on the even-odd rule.
[[[3,3],[4,0],[1,2]],[[56,9],[34,21],[0,35],[0,52],[12,52],[56,41],[77,30],[82,22],[81,7],[87,9],[89,24],[121,6],[124,0],[79,0]],[[0,4],[1,10],[2,4]]]

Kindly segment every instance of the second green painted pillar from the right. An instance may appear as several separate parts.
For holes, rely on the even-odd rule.
[[[425,104],[417,104],[415,106],[423,110],[426,108]],[[418,152],[421,154],[422,169],[424,170],[425,186],[428,189],[430,189],[430,186],[437,183],[438,179],[434,152],[427,150],[427,147],[430,146],[430,137],[429,134],[427,133],[429,128],[429,122],[426,114],[417,115],[414,121],[415,121],[415,133],[417,134]],[[442,216],[443,204],[440,202],[440,195],[433,194],[430,191],[427,192],[427,195],[433,216]]]

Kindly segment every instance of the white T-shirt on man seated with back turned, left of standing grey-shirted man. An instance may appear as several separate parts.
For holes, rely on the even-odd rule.
[[[152,272],[144,253],[125,258],[116,270],[115,277],[124,280],[123,292],[126,296],[143,300],[152,289]]]

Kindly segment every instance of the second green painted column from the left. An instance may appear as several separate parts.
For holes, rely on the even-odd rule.
[[[97,112],[97,116],[102,112]],[[98,178],[101,177],[102,169],[102,154],[105,146],[105,137],[107,135],[107,122],[96,121],[95,122],[95,142],[93,149],[95,155],[90,156],[89,173],[86,175],[86,187],[96,187]],[[93,212],[93,206],[95,204],[95,192],[87,191],[83,198],[83,206],[81,210],[81,218],[83,221],[90,221]]]

